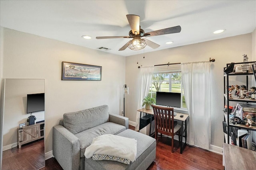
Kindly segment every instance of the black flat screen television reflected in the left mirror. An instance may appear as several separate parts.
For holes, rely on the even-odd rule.
[[[27,113],[44,111],[44,93],[27,94]]]

